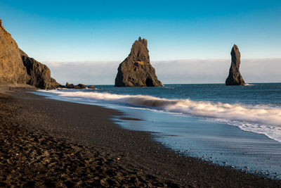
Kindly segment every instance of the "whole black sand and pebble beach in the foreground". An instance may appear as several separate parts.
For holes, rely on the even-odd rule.
[[[124,118],[118,111],[26,91],[1,90],[0,187],[281,187],[178,156],[149,132],[113,123],[112,115]]]

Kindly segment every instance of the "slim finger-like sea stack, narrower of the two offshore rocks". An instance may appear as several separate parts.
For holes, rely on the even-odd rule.
[[[229,69],[228,78],[226,78],[226,85],[244,85],[245,82],[239,71],[240,68],[240,51],[234,44],[231,50],[231,65]]]

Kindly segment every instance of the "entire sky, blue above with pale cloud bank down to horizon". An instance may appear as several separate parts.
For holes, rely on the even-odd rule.
[[[62,83],[113,84],[139,36],[148,39],[164,83],[223,83],[233,44],[244,80],[281,82],[280,0],[0,0],[0,19],[18,46]]]

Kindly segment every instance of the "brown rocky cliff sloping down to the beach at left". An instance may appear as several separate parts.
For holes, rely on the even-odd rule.
[[[18,48],[0,20],[0,84],[30,84],[41,89],[54,89],[60,84],[51,77],[48,67],[30,58]]]

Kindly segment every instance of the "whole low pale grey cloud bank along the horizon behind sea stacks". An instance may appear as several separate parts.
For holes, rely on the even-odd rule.
[[[43,62],[61,84],[114,84],[122,61]],[[151,61],[164,84],[224,83],[229,59]],[[281,58],[242,59],[240,72],[245,82],[281,82]]]

